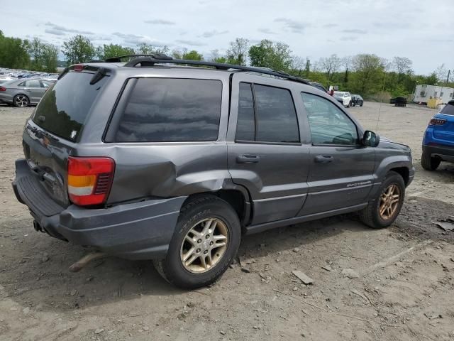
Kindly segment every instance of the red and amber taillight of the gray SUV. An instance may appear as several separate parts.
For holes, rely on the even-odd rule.
[[[99,205],[107,200],[114,178],[111,158],[68,158],[68,194],[75,205]]]

